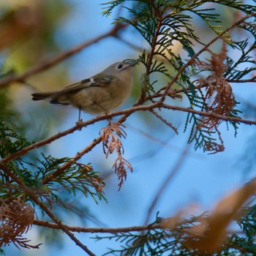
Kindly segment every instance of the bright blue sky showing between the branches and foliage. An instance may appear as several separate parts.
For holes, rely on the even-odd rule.
[[[87,39],[97,37],[97,35],[110,29],[110,23],[113,22],[113,19],[102,17],[100,14],[102,7],[99,4],[104,1],[69,0],[69,2],[74,6],[73,11],[56,33],[56,42],[59,42],[63,50],[67,50]],[[91,20],[91,22],[89,23],[88,20]],[[115,38],[105,39],[69,59],[69,79],[77,81],[87,78],[115,61],[128,58],[136,59],[137,56],[138,52],[129,48],[123,42],[119,42]],[[243,87],[242,91],[241,86]],[[233,91],[241,99],[248,101],[255,99],[256,91],[252,88],[252,85],[236,84],[233,86]],[[131,106],[135,100],[131,97],[121,108]],[[180,105],[182,103],[176,101],[174,104]],[[56,127],[53,134],[72,127],[77,121],[78,110],[55,105],[52,108],[59,111],[61,111],[61,108],[68,109],[67,116],[61,120],[61,124]],[[172,130],[167,129],[159,120],[150,117],[150,115],[135,113],[135,115],[128,118],[125,123],[127,139],[122,141],[125,149],[124,157],[132,164],[134,172],[128,173],[127,181],[119,192],[115,175],[106,181],[105,192],[108,203],[102,201],[99,202],[99,205],[95,205],[91,199],[82,199],[84,203],[89,205],[92,214],[95,214],[99,221],[107,227],[143,225],[151,200],[162,182],[165,181],[170,170],[176,165],[181,152],[187,147],[189,133],[183,133],[186,115],[171,111],[168,113],[168,117],[178,127],[179,135],[175,135]],[[91,118],[91,116],[83,113],[83,119],[88,118]],[[66,138],[51,143],[49,146],[50,154],[53,157],[74,156],[86,147],[92,138],[97,137],[99,129],[106,124],[106,121],[102,121],[93,127],[86,127],[80,132],[75,132]],[[148,133],[154,139],[143,135],[141,131]],[[214,203],[217,203],[227,192],[249,181],[249,178],[255,175],[255,170],[244,176],[242,172],[243,157],[253,135],[255,135],[255,127],[241,124],[235,138],[232,127],[227,131],[225,124],[223,124],[224,152],[208,155],[202,151],[195,152],[193,145],[189,146],[187,157],[165,193],[159,198],[150,222],[154,221],[157,211],[160,212],[160,217],[171,217],[181,209],[187,210],[187,215],[211,211],[214,208]],[[93,152],[83,157],[80,162],[91,162],[95,170],[101,170],[104,173],[112,170],[111,166],[114,159],[115,156],[105,159],[102,146],[97,146]],[[190,212],[191,206],[195,209],[192,212]],[[78,225],[75,219],[69,219],[69,222],[65,224]],[[88,225],[96,227],[91,222],[88,222]],[[99,242],[89,239],[91,234],[75,235],[96,255],[105,252],[105,247],[115,246],[114,243],[108,241],[99,244]],[[37,236],[34,229],[30,236],[32,241]],[[84,255],[83,251],[69,238],[65,238],[63,249],[50,249],[46,244],[41,247],[39,250],[20,252],[20,255],[39,254],[47,256],[55,255],[56,251],[64,256],[71,253],[78,256]]]

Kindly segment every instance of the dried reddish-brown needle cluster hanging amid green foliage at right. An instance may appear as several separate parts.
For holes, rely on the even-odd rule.
[[[206,87],[206,110],[209,113],[218,114],[221,116],[230,116],[231,111],[236,105],[236,99],[234,97],[230,84],[225,80],[223,74],[227,70],[227,64],[225,60],[227,58],[227,44],[223,42],[222,50],[220,53],[211,53],[211,59],[206,61],[197,61],[197,65],[200,69],[206,69],[211,71],[211,75],[208,78],[197,80],[199,87]],[[207,129],[208,131],[216,131],[220,137],[218,130],[219,124],[222,123],[222,119],[208,116],[197,125],[199,129]],[[206,145],[207,146],[207,145]],[[211,150],[211,148],[208,148]],[[219,145],[217,151],[224,150],[223,145]]]

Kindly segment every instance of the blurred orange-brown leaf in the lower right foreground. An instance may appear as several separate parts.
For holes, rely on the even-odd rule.
[[[249,197],[255,193],[255,186],[256,178],[219,200],[212,214],[197,219],[199,225],[184,230],[187,234],[184,245],[203,255],[218,252],[228,240],[228,226],[240,217],[241,207],[246,205]]]

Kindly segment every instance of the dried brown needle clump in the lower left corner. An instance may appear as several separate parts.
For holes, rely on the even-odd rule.
[[[39,248],[28,244],[30,240],[23,238],[34,221],[34,208],[24,203],[21,197],[0,200],[0,247],[15,244],[18,248]]]

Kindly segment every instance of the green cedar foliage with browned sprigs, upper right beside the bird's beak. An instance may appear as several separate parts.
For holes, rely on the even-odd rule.
[[[256,12],[255,5],[244,4],[243,1],[117,0],[105,3],[103,15],[110,15],[117,7],[128,10],[128,17],[116,18],[115,22],[133,26],[148,42],[150,50],[144,50],[140,56],[140,61],[146,67],[142,91],[148,94],[142,102],[146,99],[157,99],[154,96],[157,80],[154,80],[151,74],[158,72],[167,77],[172,86],[176,85],[176,88],[178,86],[179,89],[184,90],[190,102],[189,108],[228,117],[239,117],[241,111],[238,110],[238,102],[233,96],[230,82],[239,83],[255,72],[253,57],[256,47],[255,18],[252,17],[249,21],[246,20],[235,26],[239,29],[239,34],[247,33],[244,39],[232,38],[230,34],[233,31],[225,31],[227,26],[219,14],[220,8],[224,6],[230,8],[230,11],[241,11],[241,15],[252,15]],[[203,61],[200,59],[201,56],[195,56],[197,49],[206,45],[196,31],[195,18],[201,18],[214,34],[222,35],[220,38],[223,40],[223,47],[219,54],[213,53],[210,48],[203,50],[211,53],[210,60]],[[184,53],[175,53],[171,50],[176,42],[181,43]],[[236,55],[228,55],[229,50],[232,49],[236,49]],[[188,64],[188,59],[193,57],[192,63]],[[174,72],[170,72],[170,69]],[[218,72],[219,69],[220,72]],[[206,71],[211,72],[211,75],[204,80],[195,79],[196,75],[205,74]],[[177,77],[173,75],[177,73]],[[256,78],[252,78],[251,81],[253,80]],[[207,91],[210,86],[214,87],[211,94]],[[161,93],[164,90],[165,88],[158,92]],[[216,93],[219,93],[219,97],[221,97],[220,94],[227,93],[233,99],[230,102],[224,100],[215,102],[213,106],[210,97]],[[173,94],[170,97],[173,97]],[[227,108],[227,111],[224,113],[222,108]],[[188,142],[194,143],[195,150],[202,148],[210,154],[223,151],[225,146],[219,132],[221,122],[213,124],[212,118],[204,119],[195,113],[188,113],[184,127],[185,131],[189,130]],[[235,129],[236,135],[239,123],[227,121],[227,124]]]

